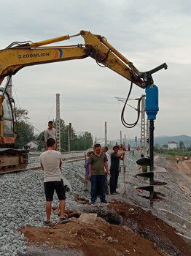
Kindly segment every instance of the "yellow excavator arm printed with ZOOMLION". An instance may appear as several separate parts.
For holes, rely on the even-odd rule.
[[[44,46],[76,36],[82,36],[85,44],[59,47]],[[0,50],[0,85],[6,76],[15,75],[23,67],[84,59],[88,56],[95,59],[98,64],[104,65],[132,81],[137,86],[145,87],[145,81],[139,78],[139,71],[125,56],[114,49],[104,37],[83,30],[74,36],[66,35],[41,42],[14,42],[4,50]]]

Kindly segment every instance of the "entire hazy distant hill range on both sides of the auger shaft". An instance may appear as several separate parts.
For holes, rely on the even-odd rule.
[[[178,136],[158,136],[155,137],[155,144],[159,144],[160,146],[163,146],[164,144],[175,141],[179,143],[180,141],[183,141],[186,146],[191,146],[191,137],[187,135],[178,135]],[[120,143],[120,140],[113,140],[112,143],[114,144],[115,142]],[[130,143],[131,146],[135,146],[135,138],[128,138],[126,139],[126,143]],[[137,145],[140,145],[140,138],[137,138]]]

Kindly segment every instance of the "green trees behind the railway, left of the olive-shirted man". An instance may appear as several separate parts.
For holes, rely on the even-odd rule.
[[[31,125],[28,123],[28,110],[23,108],[15,109],[15,117],[17,120],[17,140],[15,148],[23,148],[31,140],[35,140],[39,146],[38,151],[44,149],[44,131],[39,135],[34,135]],[[68,148],[68,129],[69,126],[61,119],[61,150],[67,151]],[[90,132],[83,132],[82,135],[77,135],[74,128],[71,127],[71,151],[87,150],[93,146],[93,136]]]

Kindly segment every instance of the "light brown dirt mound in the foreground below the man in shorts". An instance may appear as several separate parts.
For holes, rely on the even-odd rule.
[[[28,241],[28,245],[50,248],[77,249],[86,256],[126,256],[152,255],[164,256],[155,244],[145,240],[128,227],[111,225],[102,219],[94,224],[72,220],[65,225],[51,227],[26,226],[20,229]]]

